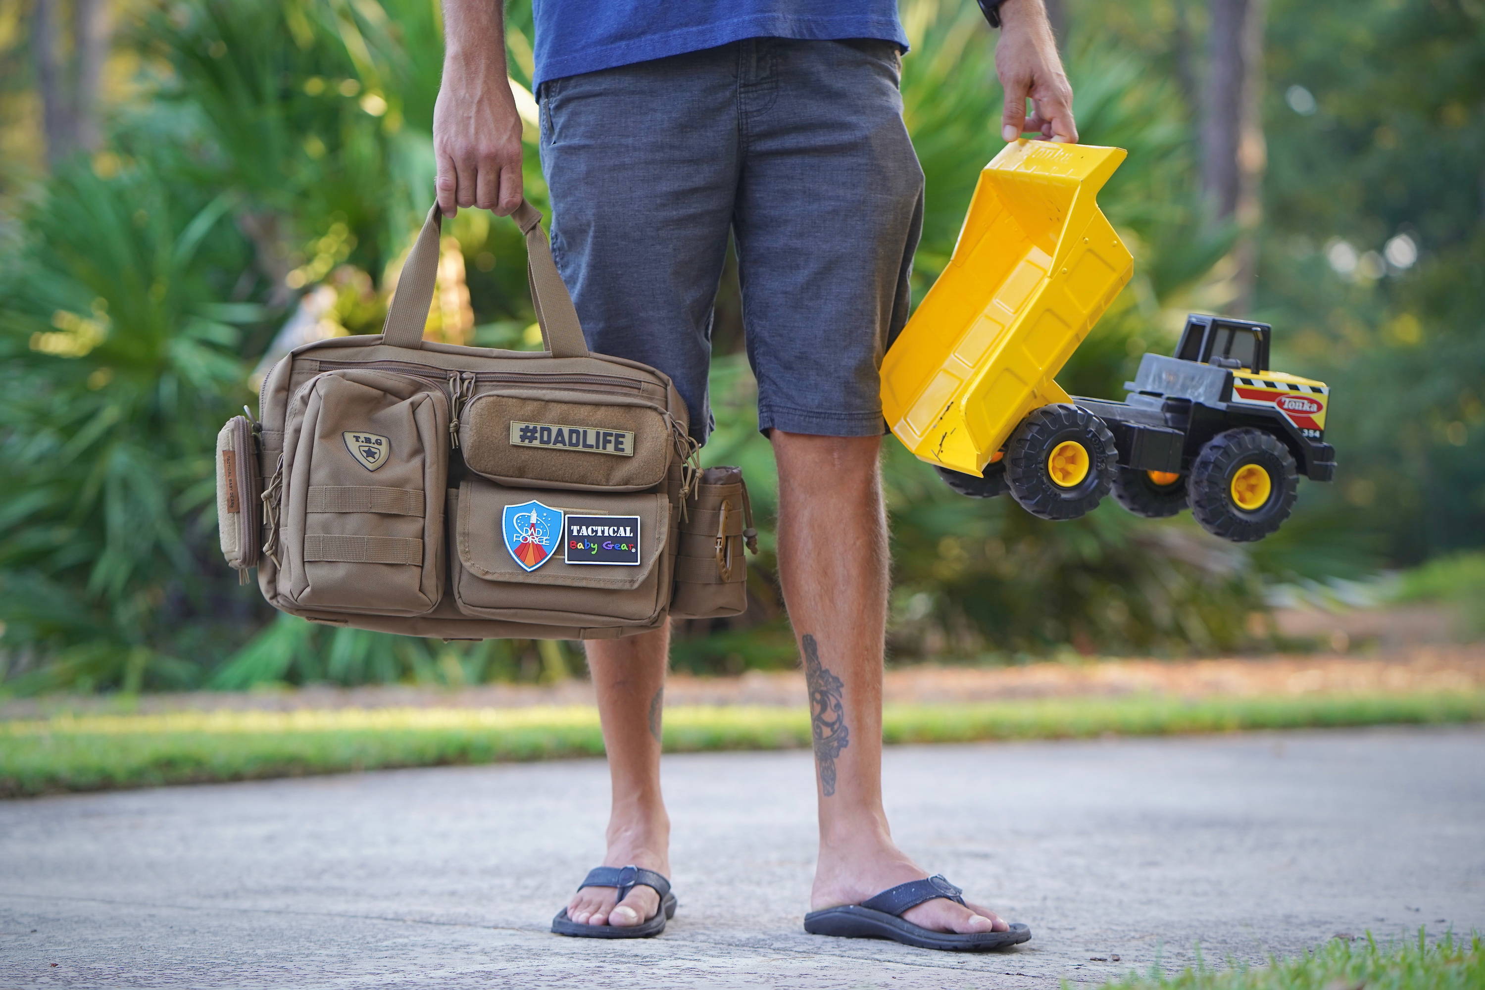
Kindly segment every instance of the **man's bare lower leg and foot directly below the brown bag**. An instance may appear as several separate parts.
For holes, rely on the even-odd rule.
[[[670,816],[659,794],[659,723],[670,628],[590,640],[588,672],[598,692],[603,748],[609,754],[606,867],[644,867],[670,876]],[[615,888],[584,888],[567,902],[579,925],[639,925],[659,910],[653,888],[636,886],[618,905]]]

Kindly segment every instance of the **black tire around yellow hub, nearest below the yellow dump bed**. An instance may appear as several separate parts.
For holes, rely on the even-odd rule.
[[[1089,453],[1089,473],[1063,488],[1047,473],[1057,444],[1077,441]],[[1011,497],[1040,519],[1075,519],[1091,512],[1114,484],[1118,466],[1114,435],[1103,420],[1071,402],[1034,410],[1005,444],[1005,481]]]

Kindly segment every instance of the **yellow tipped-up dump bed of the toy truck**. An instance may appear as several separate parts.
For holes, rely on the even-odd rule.
[[[980,475],[1135,272],[1096,196],[1123,148],[1005,145],[953,258],[882,362],[882,413],[922,460]]]

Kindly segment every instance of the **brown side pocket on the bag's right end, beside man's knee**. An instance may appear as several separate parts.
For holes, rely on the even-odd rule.
[[[670,613],[677,619],[722,619],[745,612],[744,546],[757,552],[742,469],[707,468],[686,499]]]

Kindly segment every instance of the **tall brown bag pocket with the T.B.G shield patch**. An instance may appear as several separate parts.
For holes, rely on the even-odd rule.
[[[284,444],[279,592],[300,607],[429,612],[443,597],[443,387],[355,370],[316,376],[301,395]]]

